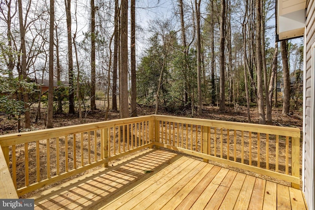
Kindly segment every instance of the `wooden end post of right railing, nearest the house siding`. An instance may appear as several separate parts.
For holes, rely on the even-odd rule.
[[[300,137],[292,137],[291,175],[300,178]],[[300,189],[300,183],[291,183],[291,187]]]

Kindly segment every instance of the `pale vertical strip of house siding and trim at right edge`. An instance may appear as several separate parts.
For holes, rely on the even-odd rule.
[[[303,189],[310,210],[315,210],[314,187],[314,71],[315,71],[315,3],[308,2],[305,31],[305,71],[304,71],[304,163]],[[313,55],[312,55],[313,53]],[[313,56],[313,57],[312,57]]]

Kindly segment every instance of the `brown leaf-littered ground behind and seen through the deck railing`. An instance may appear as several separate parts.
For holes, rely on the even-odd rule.
[[[277,125],[277,126],[293,126],[293,127],[298,127],[301,129],[302,131],[302,120],[298,119],[298,118],[293,118],[290,116],[283,116],[282,115],[282,110],[281,109],[275,109],[273,108],[273,125]],[[35,112],[33,112],[35,113]],[[138,115],[150,115],[154,113],[154,109],[153,108],[144,108],[144,107],[138,107]],[[185,111],[182,113],[167,113],[165,111],[161,111],[158,114],[161,115],[176,115],[176,116],[181,116],[181,117],[190,117],[189,115],[191,115],[191,113],[189,111]],[[295,113],[296,115],[300,115],[301,113]],[[86,117],[84,118],[83,122],[84,123],[89,123],[89,122],[97,122],[97,121],[102,121],[104,120],[104,111],[103,110],[97,110],[97,111],[90,111]],[[258,123],[258,113],[257,113],[257,109],[252,109],[251,110],[251,116],[252,116],[252,121],[253,123]],[[118,119],[119,118],[119,113],[117,112],[110,112],[109,115],[109,119]],[[196,118],[203,118],[203,119],[211,119],[211,120],[226,120],[226,121],[239,121],[239,122],[247,122],[247,113],[246,113],[246,108],[245,107],[238,107],[237,109],[235,108],[229,108],[227,107],[226,112],[220,112],[219,109],[217,107],[204,107],[203,108],[203,114],[201,116],[197,116]],[[44,120],[41,119],[39,120],[37,123],[32,122],[32,129],[33,130],[37,130],[37,129],[44,129]],[[61,115],[56,115],[54,116],[54,126],[55,127],[62,127],[62,126],[67,126],[67,125],[75,125],[75,124],[79,124],[79,119],[77,116],[69,116],[66,114],[61,114]],[[22,124],[23,126],[23,124]],[[195,128],[194,128],[195,129]],[[5,116],[0,116],[0,134],[8,134],[8,133],[15,133],[17,132],[17,122],[16,120],[8,120],[7,117]],[[85,134],[87,135],[87,134]],[[99,134],[97,134],[99,135]],[[91,137],[92,139],[94,138],[94,134],[91,133]],[[246,136],[245,136],[246,137]],[[246,139],[246,138],[245,138]],[[273,139],[270,139],[270,148],[275,148],[273,147],[273,144],[275,144],[275,141],[273,141]],[[70,139],[68,141],[71,141]],[[212,139],[213,141],[213,139]],[[70,143],[70,142],[69,142]],[[80,141],[77,141],[77,147],[80,148]],[[213,142],[212,142],[213,143]],[[86,142],[84,144],[87,144]],[[94,141],[91,141],[91,147],[94,148]],[[100,142],[96,141],[96,144],[100,144]],[[223,145],[226,145],[226,138],[223,139]],[[260,166],[262,168],[265,167],[265,159],[266,159],[266,151],[265,151],[265,147],[263,147],[263,144],[265,144],[264,142],[260,142],[261,147],[260,147],[260,154],[261,154],[261,162],[260,162]],[[283,141],[280,141],[280,144],[283,144]],[[53,146],[54,144],[52,144],[51,149],[50,149],[50,167],[51,167],[51,176],[56,175],[57,173],[57,166],[56,166],[56,146]],[[59,165],[59,170],[62,173],[65,170],[65,160],[64,160],[64,139],[60,139],[60,165]],[[240,144],[238,144],[238,147]],[[188,147],[190,147],[190,145],[187,145]],[[46,141],[40,141],[39,144],[39,148],[44,149],[46,147]],[[86,147],[86,145],[85,145]],[[117,146],[118,147],[118,146]],[[248,148],[248,142],[245,142],[245,148]],[[284,148],[284,147],[281,147]],[[290,148],[290,146],[289,146]],[[302,163],[302,137],[301,137],[301,147],[300,147],[300,162]],[[29,165],[30,165],[30,183],[34,183],[36,182],[36,161],[35,161],[35,156],[36,156],[36,144],[35,143],[30,143],[29,144]],[[217,150],[220,151],[220,149],[218,148]],[[69,147],[68,152],[71,153],[73,151],[73,149],[71,149],[71,147]],[[239,148],[237,149],[237,151],[239,152]],[[257,151],[257,144],[253,143],[252,144],[252,153],[256,153]],[[80,166],[81,164],[81,159],[80,159],[80,149],[77,150],[77,158],[76,158],[76,162],[77,162],[77,166]],[[214,151],[212,151],[213,154]],[[217,151],[218,152],[218,151]],[[226,154],[226,147],[225,149],[223,148],[223,153]],[[285,155],[285,150],[280,150],[280,157],[284,157]],[[274,167],[274,162],[275,162],[275,150],[270,150],[270,164],[269,167],[273,168]],[[18,157],[24,157],[25,155],[25,151],[24,151],[24,145],[20,145],[16,147],[16,157],[17,157],[17,186],[23,186],[23,184],[25,184],[25,176],[24,176],[24,161],[23,158],[18,158]],[[100,155],[100,151],[96,150],[95,151],[91,151],[91,158],[95,158],[96,156]],[[219,156],[219,154],[217,153],[217,155]],[[237,153],[237,156],[239,154]],[[246,154],[246,156],[248,156],[248,154]],[[41,151],[40,152],[40,158],[41,158],[41,168],[40,168],[40,180],[46,179],[47,178],[47,172],[46,172],[46,167],[44,162],[46,161],[46,153],[45,151]],[[84,163],[88,163],[88,155],[84,155]],[[193,157],[196,158],[196,157]],[[198,158],[197,158],[198,159]],[[230,159],[233,159],[233,150],[230,149]],[[117,160],[116,160],[117,161]],[[245,163],[248,162],[248,159],[245,158]],[[217,164],[220,165],[222,167],[227,167],[227,168],[231,168],[229,166],[225,166],[222,164],[218,164],[218,163],[214,163],[211,162],[212,164]],[[114,165],[115,162],[111,162],[109,163],[110,165]],[[253,162],[252,165],[257,165],[257,162],[255,162],[255,156],[253,156]],[[302,164],[300,164],[302,167]],[[68,168],[69,170],[71,170],[73,168],[73,157],[68,161]],[[289,185],[289,183],[285,183],[284,181],[281,180],[275,180],[273,178],[270,177],[266,177],[266,176],[261,176],[258,174],[254,174],[252,172],[247,172],[238,168],[231,168],[233,170],[236,171],[240,171],[246,174],[250,174],[256,177],[263,177],[264,179],[267,180],[273,180],[273,181],[278,181],[281,182],[282,184],[286,184]],[[11,169],[10,169],[11,170]],[[89,171],[86,171],[85,173],[89,173],[91,171],[93,171],[95,169],[91,169]],[[279,162],[279,170],[280,171],[284,171],[284,158],[280,158],[280,162]],[[11,170],[12,171],[12,170]],[[301,173],[300,173],[301,174]],[[67,180],[71,180],[74,179],[75,177],[79,177],[82,176],[83,174],[79,174],[76,175],[74,177],[68,178],[64,181]],[[28,193],[26,195],[23,195],[23,198],[26,197],[30,197],[33,194],[38,193],[39,191],[43,191],[47,188],[50,188],[52,186],[56,186],[60,184],[60,182],[54,183],[52,185],[49,186],[45,186],[42,189],[36,190],[34,192]]]

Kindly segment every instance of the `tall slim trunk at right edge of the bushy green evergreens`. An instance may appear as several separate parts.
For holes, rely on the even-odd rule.
[[[200,40],[200,1],[195,0],[196,22],[197,22],[197,92],[198,109],[197,114],[202,114],[202,92],[201,92],[201,40]]]

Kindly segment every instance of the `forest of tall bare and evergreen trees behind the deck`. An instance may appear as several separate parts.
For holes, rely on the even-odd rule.
[[[274,0],[174,0],[167,16],[141,17],[163,5],[1,0],[0,114],[17,119],[19,128],[24,116],[30,128],[36,104],[35,121],[45,110],[47,128],[54,113],[82,122],[100,95],[105,120],[109,110],[137,116],[137,105],[191,116],[213,105],[222,112],[247,107],[249,122],[257,107],[265,124],[274,106],[283,115],[301,107],[303,45],[275,43]],[[48,91],[41,91],[43,79]],[[279,85],[283,94],[274,97]]]

